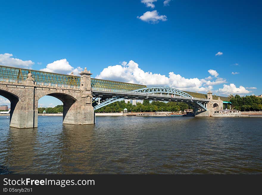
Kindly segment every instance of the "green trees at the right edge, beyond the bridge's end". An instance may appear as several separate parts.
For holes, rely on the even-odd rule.
[[[261,111],[262,110],[262,98],[256,96],[241,97],[236,95],[230,99],[232,106],[240,111]]]

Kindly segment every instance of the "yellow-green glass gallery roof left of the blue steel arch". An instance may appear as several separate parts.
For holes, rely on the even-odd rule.
[[[67,74],[58,74],[52,72],[43,72],[39,70],[22,69],[10,66],[0,66],[0,78],[9,80],[26,80],[27,74],[31,73],[33,79],[38,83],[53,83],[62,85],[80,85],[80,76]],[[146,87],[146,85],[138,85],[133,83],[124,83],[118,81],[102,80],[91,78],[91,86],[105,89],[122,89],[134,90]]]

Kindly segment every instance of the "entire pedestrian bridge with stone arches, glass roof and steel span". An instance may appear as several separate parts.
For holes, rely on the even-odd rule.
[[[0,66],[0,95],[11,102],[10,126],[37,127],[38,100],[45,95],[63,102],[65,124],[94,124],[94,110],[122,99],[186,102],[194,107],[195,115],[203,116],[212,115],[214,109],[223,108],[223,102],[229,102],[229,98],[211,92],[202,94],[91,78],[86,68],[79,74]]]

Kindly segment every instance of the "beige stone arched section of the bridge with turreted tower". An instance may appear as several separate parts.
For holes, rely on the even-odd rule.
[[[80,86],[58,84],[44,85],[34,81],[29,73],[22,82],[0,82],[0,95],[11,103],[10,126],[34,128],[38,126],[38,100],[43,96],[53,96],[63,102],[63,123],[84,125],[94,124],[92,106],[91,73],[85,68],[79,73]]]

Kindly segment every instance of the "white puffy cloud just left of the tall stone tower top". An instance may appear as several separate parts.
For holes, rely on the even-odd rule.
[[[46,68],[40,70],[45,72],[55,72],[61,74],[71,74],[71,72],[73,72],[73,74],[78,75],[83,69],[81,67],[74,68],[69,64],[69,62],[66,59],[61,59],[47,64]]]

